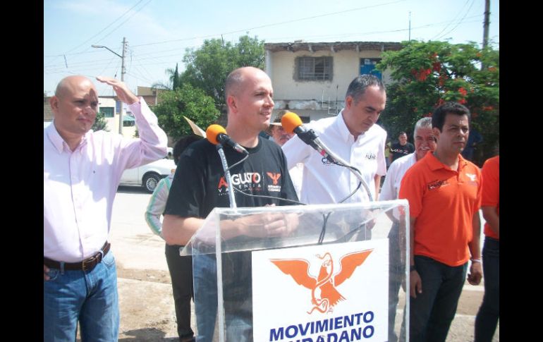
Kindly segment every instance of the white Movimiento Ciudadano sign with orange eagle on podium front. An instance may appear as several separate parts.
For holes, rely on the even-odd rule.
[[[388,269],[383,239],[252,252],[255,341],[386,341]]]

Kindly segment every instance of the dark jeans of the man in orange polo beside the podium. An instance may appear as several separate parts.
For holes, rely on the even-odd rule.
[[[411,342],[445,341],[464,286],[468,263],[451,267],[415,255],[415,267],[422,279],[422,293],[409,297]]]

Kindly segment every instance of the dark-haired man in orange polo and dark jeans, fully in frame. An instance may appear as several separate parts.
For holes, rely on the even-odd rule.
[[[410,341],[445,341],[468,281],[482,278],[481,171],[460,152],[469,135],[470,111],[446,102],[432,114],[437,149],[403,176],[399,198],[410,212]]]

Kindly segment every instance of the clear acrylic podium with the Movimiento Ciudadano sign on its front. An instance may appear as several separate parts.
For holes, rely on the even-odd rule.
[[[389,341],[404,310],[408,341],[408,213],[406,200],[215,208],[181,250],[193,256],[196,341]],[[226,238],[239,219],[278,214],[288,234]]]

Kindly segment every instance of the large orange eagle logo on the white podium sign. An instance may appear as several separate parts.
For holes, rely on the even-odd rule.
[[[315,309],[319,312],[332,312],[334,305],[340,300],[345,300],[345,297],[337,291],[336,286],[340,286],[349,279],[372,251],[373,249],[362,250],[343,255],[339,259],[340,266],[336,274],[334,274],[334,260],[331,254],[326,252],[322,257],[317,255],[323,261],[316,278],[309,274],[310,262],[305,259],[270,259],[270,261],[284,274],[292,276],[296,283],[311,290],[313,307],[307,312],[308,314]]]

